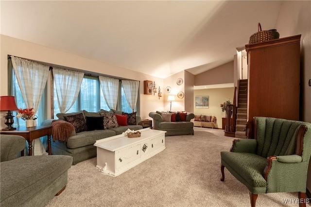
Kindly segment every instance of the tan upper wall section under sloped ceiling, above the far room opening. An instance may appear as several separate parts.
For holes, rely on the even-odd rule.
[[[233,61],[195,76],[195,86],[233,83]]]

